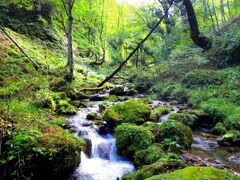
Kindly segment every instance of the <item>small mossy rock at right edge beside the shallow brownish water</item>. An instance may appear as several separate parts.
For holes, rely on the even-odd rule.
[[[240,146],[240,131],[227,131],[227,133],[221,137],[218,143],[223,146]]]

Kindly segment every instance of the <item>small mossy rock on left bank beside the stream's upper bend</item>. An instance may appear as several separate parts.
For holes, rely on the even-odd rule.
[[[57,103],[56,112],[64,115],[72,115],[77,113],[77,108],[69,104],[67,100],[60,100]]]

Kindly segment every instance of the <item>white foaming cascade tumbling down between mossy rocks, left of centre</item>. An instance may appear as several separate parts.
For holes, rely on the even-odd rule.
[[[86,119],[90,112],[98,112],[102,102],[89,102],[89,108],[82,108],[77,115],[69,118],[76,127],[77,135],[91,142],[90,157],[81,152],[81,164],[74,179],[77,180],[117,180],[134,170],[133,164],[117,154],[116,140],[111,134],[99,135],[97,127]]]

